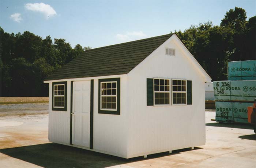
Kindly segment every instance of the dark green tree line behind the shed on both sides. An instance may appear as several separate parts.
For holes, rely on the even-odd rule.
[[[221,24],[211,21],[175,31],[213,80],[227,80],[229,61],[256,59],[256,16],[246,20],[236,7]],[[74,48],[65,39],[43,39],[31,32],[7,33],[0,27],[0,96],[48,96],[43,80],[90,47]]]

